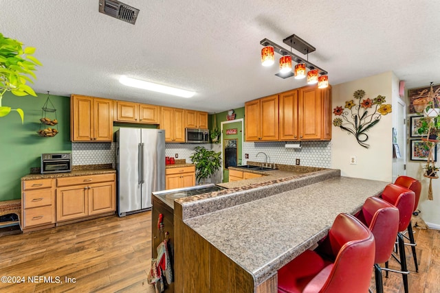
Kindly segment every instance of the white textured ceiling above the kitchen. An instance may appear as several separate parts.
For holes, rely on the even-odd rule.
[[[309,61],[329,72],[330,84],[384,71],[408,89],[440,83],[440,1],[122,2],[140,9],[135,25],[98,12],[98,0],[1,0],[0,32],[37,48],[44,66],[34,89],[53,95],[210,113],[241,107],[305,85],[276,77],[276,65],[261,66],[260,40],[289,49],[283,39],[292,34],[316,47]],[[197,94],[186,99],[127,88],[120,75]]]

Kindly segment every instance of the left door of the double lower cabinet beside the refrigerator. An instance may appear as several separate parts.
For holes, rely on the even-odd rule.
[[[89,215],[87,185],[56,190],[56,220],[72,220]]]

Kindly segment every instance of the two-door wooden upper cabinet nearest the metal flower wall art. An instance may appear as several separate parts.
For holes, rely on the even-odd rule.
[[[305,86],[279,96],[280,141],[331,139],[330,86]]]

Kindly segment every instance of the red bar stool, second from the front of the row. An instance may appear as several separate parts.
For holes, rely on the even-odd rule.
[[[399,228],[399,210],[380,198],[367,198],[362,206],[362,211],[356,218],[369,227],[375,239],[375,281],[376,293],[383,293],[382,269],[379,263],[385,263],[393,253],[397,228]]]

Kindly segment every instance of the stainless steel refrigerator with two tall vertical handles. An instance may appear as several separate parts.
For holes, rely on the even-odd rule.
[[[165,189],[165,130],[121,127],[115,132],[118,215],[151,209]]]

